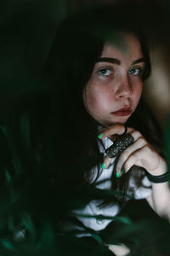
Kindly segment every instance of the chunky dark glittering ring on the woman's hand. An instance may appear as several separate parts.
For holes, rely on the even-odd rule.
[[[113,158],[118,154],[121,154],[128,146],[134,142],[134,138],[130,133],[122,134],[116,141],[111,145],[111,147],[105,149],[105,153]]]

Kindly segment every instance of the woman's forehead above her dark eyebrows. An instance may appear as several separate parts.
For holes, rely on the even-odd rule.
[[[118,35],[116,41],[106,42],[101,57],[138,59],[143,56],[139,39],[133,34]]]

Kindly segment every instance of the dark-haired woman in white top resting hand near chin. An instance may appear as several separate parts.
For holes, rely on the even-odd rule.
[[[85,182],[120,192],[109,201],[95,195],[74,211],[92,230],[105,229],[111,222],[106,217],[114,217],[128,196],[145,198],[160,216],[170,215],[159,130],[141,98],[150,56],[137,20],[133,9],[122,6],[103,6],[67,18],[46,63],[46,79],[54,84],[49,122],[59,188]],[[105,149],[125,132],[125,124],[133,143],[112,158]],[[101,154],[104,158],[98,158],[95,166],[88,165]],[[84,163],[82,172],[77,172]]]

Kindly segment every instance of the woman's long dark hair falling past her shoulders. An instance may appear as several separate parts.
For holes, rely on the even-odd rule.
[[[124,9],[119,5],[102,6],[68,17],[56,32],[43,70],[43,77],[52,84],[51,90],[54,91],[49,101],[51,102],[52,114],[48,125],[53,127],[51,141],[54,145],[54,152],[58,156],[58,170],[59,161],[62,163],[61,166],[65,165],[73,170],[74,166],[81,166],[81,163],[87,163],[91,157],[100,155],[99,144],[96,139],[99,124],[87,113],[82,100],[82,90],[88,83],[94,64],[101,55],[105,42],[116,40],[117,32],[133,33],[139,39],[145,60],[142,79],[147,79],[150,75],[149,50],[137,20],[139,19],[134,17],[133,10],[129,9],[128,6],[124,6]],[[145,106],[143,100],[139,105]],[[136,128],[135,126],[138,126],[140,122],[140,117],[144,116],[145,113],[147,115],[148,110],[145,110],[146,108],[142,109],[143,114],[141,115],[139,106],[135,113],[138,120],[132,117],[129,124]],[[151,115],[150,122],[152,122]],[[144,126],[139,126],[139,131],[150,142],[154,142],[153,133],[150,132],[150,125],[147,122]],[[102,157],[96,159],[100,164]],[[89,162],[91,163],[90,160]],[[77,172],[77,179],[74,182],[79,183],[82,177],[88,177],[89,182],[90,177],[92,177],[91,167],[87,165],[82,168],[83,175],[82,172],[79,174]],[[69,183],[71,173],[68,177],[64,173],[59,173],[59,177],[63,177],[65,182],[67,180]],[[114,180],[116,180],[114,188],[125,191],[126,194],[126,176],[123,181],[122,179],[120,181]]]

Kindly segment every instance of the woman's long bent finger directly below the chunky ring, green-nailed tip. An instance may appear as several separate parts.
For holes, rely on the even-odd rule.
[[[129,158],[129,156],[139,148],[143,148],[144,145],[146,145],[146,141],[144,137],[139,137],[133,144],[131,144],[128,148],[126,148],[119,157],[119,160],[116,166],[116,172],[121,174],[122,166],[124,165],[126,160]]]

